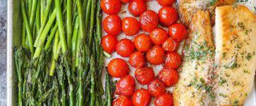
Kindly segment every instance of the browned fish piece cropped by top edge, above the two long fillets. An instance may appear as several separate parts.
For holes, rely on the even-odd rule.
[[[178,13],[181,21],[188,27],[193,15],[198,10],[210,11],[212,22],[214,22],[214,9],[216,6],[233,4],[235,0],[178,0]]]

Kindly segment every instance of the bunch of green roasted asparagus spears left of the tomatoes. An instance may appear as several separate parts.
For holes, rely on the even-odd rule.
[[[100,0],[21,0],[21,47],[14,50],[18,105],[111,105],[100,46]]]

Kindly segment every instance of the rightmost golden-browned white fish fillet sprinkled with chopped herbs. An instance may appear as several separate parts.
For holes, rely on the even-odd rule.
[[[256,16],[245,6],[215,10],[217,105],[242,105],[254,84]]]

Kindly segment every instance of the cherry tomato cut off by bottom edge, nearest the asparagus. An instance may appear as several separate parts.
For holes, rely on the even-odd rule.
[[[113,106],[132,106],[132,100],[120,95],[118,98],[114,99]]]

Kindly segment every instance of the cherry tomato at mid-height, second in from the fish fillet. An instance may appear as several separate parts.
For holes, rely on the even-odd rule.
[[[146,60],[155,65],[164,63],[164,49],[157,45],[152,47],[146,52]]]

